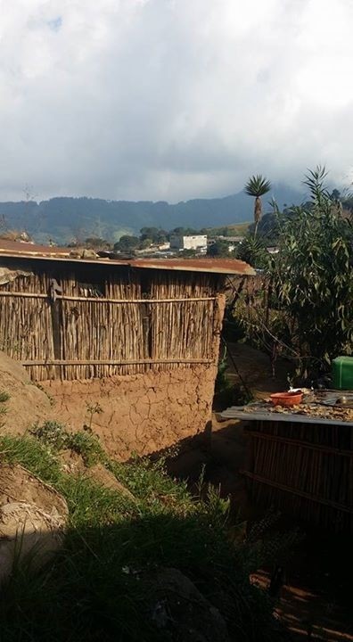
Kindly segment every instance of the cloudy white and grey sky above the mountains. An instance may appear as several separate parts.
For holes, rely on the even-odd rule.
[[[0,200],[353,180],[353,0],[0,0]]]

